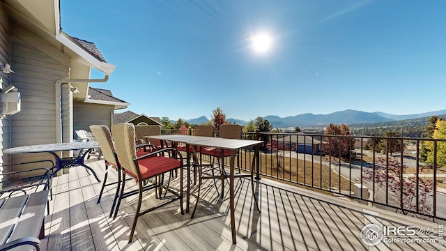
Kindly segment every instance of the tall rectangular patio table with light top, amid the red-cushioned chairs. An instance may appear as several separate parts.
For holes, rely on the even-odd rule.
[[[186,144],[186,154],[187,154],[187,192],[186,192],[186,212],[189,212],[190,203],[190,146],[204,146],[204,147],[215,147],[217,149],[227,149],[231,151],[231,159],[229,161],[230,172],[229,172],[229,207],[231,208],[231,230],[232,230],[232,243],[236,244],[236,222],[235,222],[235,204],[234,204],[234,178],[236,177],[246,177],[247,174],[234,174],[234,163],[236,158],[236,153],[238,149],[243,149],[245,147],[254,146],[255,154],[252,160],[252,169],[254,170],[254,161],[256,160],[256,155],[259,155],[259,147],[263,144],[260,140],[247,140],[247,139],[223,139],[218,137],[200,137],[200,136],[190,136],[190,135],[156,135],[156,136],[146,136],[148,139],[160,139],[161,141],[169,142],[180,142]],[[223,151],[222,151],[223,155]],[[224,165],[222,158],[222,165]],[[251,174],[252,176],[252,174]],[[223,183],[223,181],[222,181]],[[223,184],[222,184],[223,185]],[[253,191],[254,192],[254,191]],[[254,199],[256,200],[255,194]],[[259,209],[259,208],[258,208]]]

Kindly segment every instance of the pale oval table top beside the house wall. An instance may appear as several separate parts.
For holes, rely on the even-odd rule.
[[[98,148],[98,142],[67,142],[53,144],[38,144],[33,146],[18,146],[3,150],[3,153],[51,153],[56,151],[70,151]]]

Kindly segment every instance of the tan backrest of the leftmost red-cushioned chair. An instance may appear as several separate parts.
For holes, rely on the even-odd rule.
[[[105,161],[117,166],[116,159],[114,158],[115,150],[110,129],[104,125],[92,125],[90,126],[90,130],[100,146]]]

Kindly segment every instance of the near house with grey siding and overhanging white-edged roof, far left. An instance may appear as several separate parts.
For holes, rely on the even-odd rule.
[[[87,97],[89,82],[107,82],[115,66],[105,61],[93,43],[61,31],[60,20],[59,0],[0,2],[0,63],[10,63],[15,71],[0,71],[1,89],[13,85],[22,98],[20,112],[0,119],[1,162],[52,158],[48,153],[3,155],[3,149],[71,142],[74,113],[84,109],[82,102],[104,105]],[[92,69],[105,77],[90,79]],[[116,108],[117,104],[108,105]]]

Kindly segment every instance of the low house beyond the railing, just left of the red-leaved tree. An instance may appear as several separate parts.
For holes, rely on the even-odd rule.
[[[267,144],[267,149],[271,151],[276,147],[278,150],[315,154],[321,152],[321,140],[307,136],[303,132],[297,132],[290,135],[279,135],[278,138],[273,137]]]

